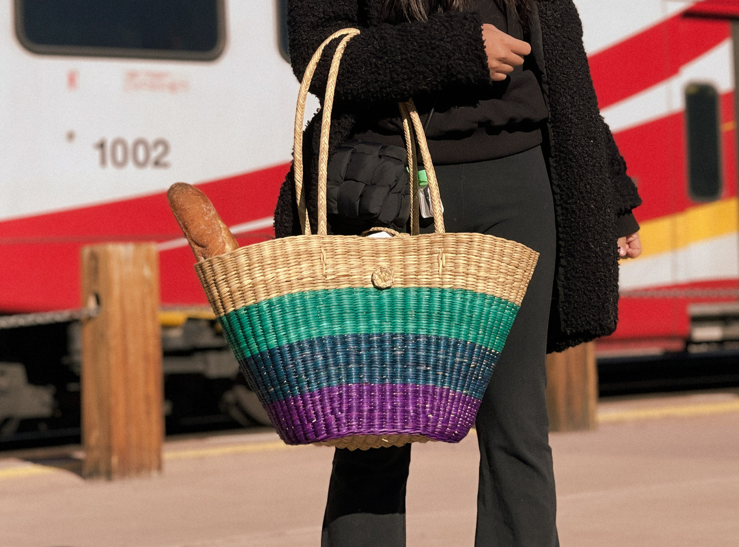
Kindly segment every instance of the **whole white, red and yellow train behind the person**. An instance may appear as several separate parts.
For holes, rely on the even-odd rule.
[[[644,200],[644,252],[621,263],[619,327],[598,355],[736,351],[739,1],[575,3],[602,115]],[[208,399],[265,424],[202,309],[165,193],[197,184],[240,245],[273,237],[299,87],[286,4],[0,1],[0,315],[78,309],[81,247],[155,242],[166,414],[185,423]],[[0,321],[0,443],[74,429],[78,327]]]

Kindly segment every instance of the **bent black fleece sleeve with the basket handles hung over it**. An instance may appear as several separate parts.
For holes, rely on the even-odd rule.
[[[361,34],[344,52],[336,103],[397,102],[449,86],[490,79],[481,21],[476,13],[438,13],[428,21],[362,26],[358,0],[289,0],[287,29],[293,72],[302,79],[321,42],[346,27]],[[336,41],[338,44],[338,40]],[[334,46],[327,47],[310,91],[323,98]]]

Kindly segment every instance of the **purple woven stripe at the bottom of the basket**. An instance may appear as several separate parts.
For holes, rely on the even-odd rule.
[[[265,405],[287,444],[348,435],[426,435],[459,442],[474,424],[480,399],[446,387],[344,384]],[[333,408],[333,415],[328,414]]]

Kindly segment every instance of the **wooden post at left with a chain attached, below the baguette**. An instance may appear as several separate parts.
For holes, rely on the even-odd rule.
[[[164,436],[159,262],[153,244],[82,249],[84,476],[162,469]]]

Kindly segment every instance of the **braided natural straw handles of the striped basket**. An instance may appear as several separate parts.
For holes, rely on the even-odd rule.
[[[358,29],[347,28],[337,30],[336,33],[330,35],[319,49],[310,58],[310,62],[305,69],[303,81],[300,84],[298,93],[298,104],[295,110],[295,132],[293,135],[293,177],[295,179],[295,195],[298,203],[298,215],[300,223],[303,226],[303,234],[310,235],[310,220],[307,214],[307,205],[305,202],[305,191],[303,188],[303,120],[305,116],[305,101],[310,88],[310,82],[316,72],[321,55],[324,49],[331,41],[341,37],[341,41],[336,47],[336,51],[331,59],[328,79],[326,82],[326,94],[323,104],[323,115],[321,118],[321,138],[319,146],[319,180],[318,180],[318,234],[327,234],[326,220],[326,194],[327,194],[327,178],[328,178],[328,140],[331,127],[331,110],[333,109],[333,96],[336,91],[336,79],[338,78],[338,67],[341,63],[341,57],[344,50],[347,49],[349,41],[360,31]],[[439,186],[436,180],[436,173],[429,154],[429,146],[426,143],[426,135],[423,132],[423,124],[420,122],[418,112],[412,100],[404,103],[398,103],[401,110],[401,118],[403,118],[403,132],[406,137],[406,150],[408,151],[408,165],[411,176],[411,234],[418,234],[418,158],[415,154],[415,140],[418,140],[418,148],[420,149],[423,167],[426,169],[426,176],[429,180],[429,193],[431,194],[432,214],[434,216],[435,233],[444,233],[444,220],[441,211],[441,198],[439,195]]]

